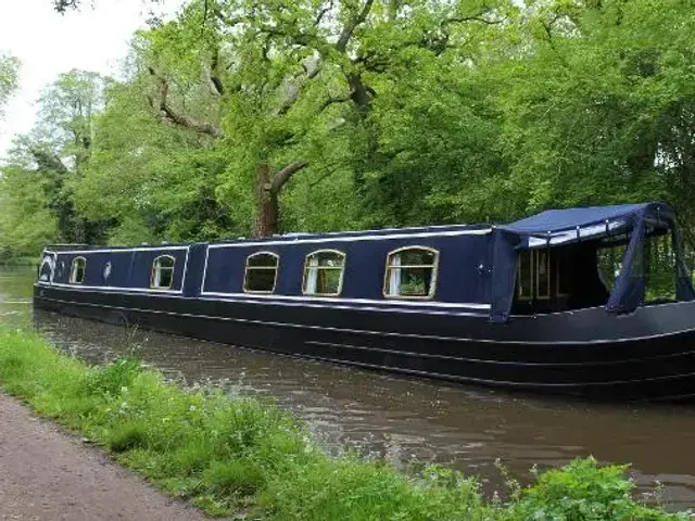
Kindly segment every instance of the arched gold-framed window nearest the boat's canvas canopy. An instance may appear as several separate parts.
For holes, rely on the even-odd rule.
[[[439,252],[431,247],[401,247],[389,253],[383,281],[387,298],[431,298],[437,287]]]

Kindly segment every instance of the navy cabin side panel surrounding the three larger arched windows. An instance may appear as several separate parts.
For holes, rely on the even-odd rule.
[[[275,294],[301,297],[306,256],[316,251],[332,250],[345,254],[345,272],[340,298],[397,302],[383,295],[387,258],[395,250],[417,246],[439,252],[437,288],[431,301],[490,303],[490,234],[212,245],[208,246],[204,266],[203,292],[243,294],[247,258],[254,253],[269,252],[279,256]],[[334,297],[325,298],[330,302]]]

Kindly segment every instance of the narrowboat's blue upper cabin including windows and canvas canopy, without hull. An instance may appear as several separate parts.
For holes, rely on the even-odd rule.
[[[285,306],[511,315],[693,300],[661,203],[554,209],[506,226],[48,246],[38,283]]]

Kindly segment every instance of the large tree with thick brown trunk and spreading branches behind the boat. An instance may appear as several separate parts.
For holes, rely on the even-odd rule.
[[[374,0],[220,1],[206,8],[192,4],[176,22],[143,35],[156,89],[150,100],[163,122],[242,149],[255,171],[256,236],[278,231],[283,188],[312,165],[302,149],[313,127],[330,128],[327,119],[337,124],[333,129],[352,124],[366,140],[359,145],[363,162],[374,163],[377,78],[403,71],[414,58],[419,63],[456,50],[471,33],[462,26],[504,18],[504,10],[476,2],[432,9],[427,2],[394,7]],[[181,85],[190,91],[201,71],[199,96],[201,87],[208,90],[218,111],[207,110],[207,117],[179,106],[186,101]],[[341,107],[329,111],[333,105]]]

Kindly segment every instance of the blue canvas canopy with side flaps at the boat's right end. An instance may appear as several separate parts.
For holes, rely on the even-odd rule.
[[[683,262],[674,213],[664,203],[621,204],[585,208],[549,209],[495,229],[492,314],[495,321],[509,317],[519,251],[554,247],[581,241],[627,238],[622,269],[606,304],[611,313],[631,313],[644,302],[644,242],[655,231],[671,232],[675,252],[675,288],[679,301],[695,300]]]

